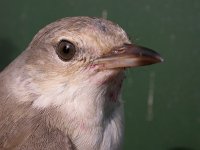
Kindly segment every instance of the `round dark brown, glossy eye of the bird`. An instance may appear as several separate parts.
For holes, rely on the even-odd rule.
[[[56,53],[63,61],[69,61],[75,55],[76,48],[71,42],[62,40],[57,46]]]

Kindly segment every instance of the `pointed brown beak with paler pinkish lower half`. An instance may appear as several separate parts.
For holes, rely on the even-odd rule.
[[[104,69],[112,69],[145,66],[160,62],[163,62],[163,59],[157,52],[146,47],[125,44],[96,59],[94,64],[100,65]]]

